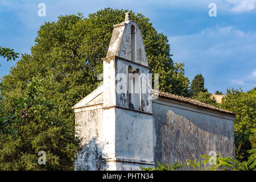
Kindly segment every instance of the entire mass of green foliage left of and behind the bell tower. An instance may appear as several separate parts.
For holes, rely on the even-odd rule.
[[[0,132],[0,169],[38,169],[40,148],[52,156],[46,169],[73,168],[71,156],[79,144],[71,139],[75,134],[71,107],[100,83],[101,58],[108,51],[113,25],[123,22],[125,12],[107,8],[88,17],[59,16],[57,22],[39,28],[31,54],[23,54],[9,75],[1,78],[0,124],[7,131]],[[189,80],[184,64],[172,61],[167,36],[158,33],[144,15],[130,13],[142,30],[152,73],[159,73],[160,90],[186,96]],[[15,165],[10,167],[12,162]]]

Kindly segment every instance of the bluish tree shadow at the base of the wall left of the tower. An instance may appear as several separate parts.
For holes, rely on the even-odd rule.
[[[104,171],[108,168],[102,158],[103,144],[98,144],[96,138],[82,146],[75,160],[75,171]]]

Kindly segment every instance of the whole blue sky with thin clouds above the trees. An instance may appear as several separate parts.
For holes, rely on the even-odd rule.
[[[46,4],[45,17],[38,16],[39,3]],[[209,3],[216,3],[217,16],[209,16]],[[256,0],[0,0],[0,46],[30,53],[44,22],[78,12],[88,16],[105,7],[150,18],[155,29],[167,35],[172,59],[185,63],[191,81],[202,73],[209,92],[256,86]],[[0,63],[0,76],[15,65],[2,57]]]

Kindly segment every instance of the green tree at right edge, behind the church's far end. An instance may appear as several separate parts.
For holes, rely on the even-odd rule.
[[[227,89],[226,96],[220,104],[222,109],[236,113],[234,120],[234,134],[236,144],[236,158],[245,161],[255,142],[256,129],[256,92],[242,92],[242,90]]]

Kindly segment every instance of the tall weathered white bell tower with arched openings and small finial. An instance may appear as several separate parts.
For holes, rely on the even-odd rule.
[[[107,169],[154,166],[151,69],[142,32],[126,13],[103,60],[103,138]]]

